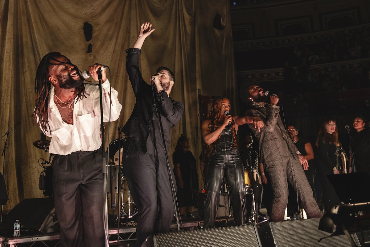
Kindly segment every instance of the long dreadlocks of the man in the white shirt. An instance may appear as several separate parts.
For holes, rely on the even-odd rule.
[[[38,64],[36,77],[35,77],[35,92],[36,92],[36,107],[33,111],[31,117],[33,117],[34,122],[38,123],[44,131],[50,131],[50,126],[48,124],[48,96],[51,89],[51,83],[49,81],[49,66],[55,65],[50,63],[50,60],[57,61],[57,64],[65,64],[55,57],[63,56],[57,51],[50,52],[46,54]],[[69,60],[68,60],[69,61]],[[69,62],[70,64],[71,62]],[[77,95],[76,101],[81,100],[85,96],[85,84],[75,88],[75,93]]]

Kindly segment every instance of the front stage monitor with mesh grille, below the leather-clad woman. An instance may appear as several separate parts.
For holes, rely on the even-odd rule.
[[[154,247],[261,247],[255,225],[155,234]]]

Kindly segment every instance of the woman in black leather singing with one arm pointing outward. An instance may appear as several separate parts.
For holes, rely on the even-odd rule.
[[[208,145],[207,198],[204,205],[204,227],[215,226],[217,207],[220,201],[224,177],[228,180],[236,225],[246,224],[244,166],[237,149],[236,133],[239,125],[250,123],[255,128],[263,127],[259,117],[231,116],[230,101],[219,96],[212,100],[208,119],[202,123],[203,140]]]

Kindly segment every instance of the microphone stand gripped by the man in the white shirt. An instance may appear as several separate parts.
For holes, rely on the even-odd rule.
[[[105,231],[105,247],[109,247],[108,241],[108,205],[107,205],[107,162],[105,160],[105,146],[104,146],[104,119],[103,119],[103,96],[102,96],[102,76],[101,70],[97,71],[99,80],[99,95],[100,95],[100,126],[101,126],[101,153],[102,153],[102,172],[103,172],[103,194],[104,194],[104,231]]]

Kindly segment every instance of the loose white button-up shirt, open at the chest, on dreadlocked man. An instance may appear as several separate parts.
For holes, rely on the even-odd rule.
[[[104,122],[115,121],[122,109],[117,99],[117,91],[106,80],[102,84]],[[111,93],[111,97],[109,97]],[[101,147],[100,139],[100,96],[98,84],[85,85],[85,97],[74,103],[73,124],[62,120],[59,109],[54,103],[54,87],[49,92],[48,123],[50,131],[43,132],[51,137],[49,153],[67,155],[74,151],[94,151]],[[111,118],[109,101],[111,98]],[[42,128],[41,128],[42,130]]]

